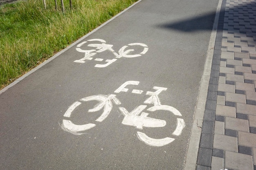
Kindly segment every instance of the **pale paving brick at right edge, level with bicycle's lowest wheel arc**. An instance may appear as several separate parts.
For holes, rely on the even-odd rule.
[[[256,134],[238,131],[238,144],[256,148]],[[214,142],[213,142],[214,144]]]

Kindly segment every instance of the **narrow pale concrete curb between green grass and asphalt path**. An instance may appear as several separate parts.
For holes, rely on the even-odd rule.
[[[0,90],[0,94],[4,93],[5,91],[7,91],[9,88],[11,88],[12,86],[16,85],[18,82],[20,82],[22,79],[24,79],[25,77],[29,76],[30,74],[34,73],[35,71],[37,71],[39,68],[43,67],[45,64],[51,62],[52,60],[54,60],[56,57],[58,57],[59,55],[61,55],[62,53],[64,53],[65,51],[67,51],[68,49],[72,48],[73,46],[76,46],[76,44],[78,44],[79,42],[83,41],[85,38],[87,38],[89,35],[93,34],[94,32],[98,31],[99,29],[101,29],[103,26],[105,26],[106,24],[108,24],[109,22],[111,22],[112,20],[115,20],[115,18],[119,17],[120,15],[122,15],[123,13],[125,13],[126,11],[128,11],[128,9],[132,8],[133,6],[135,6],[136,4],[138,4],[139,2],[141,2],[142,0],[138,0],[137,2],[135,2],[134,4],[132,4],[130,7],[126,8],[124,11],[121,11],[120,13],[118,13],[117,15],[115,15],[114,17],[110,18],[108,21],[106,21],[105,23],[101,24],[100,26],[98,26],[96,29],[94,29],[93,31],[91,31],[90,33],[84,35],[82,38],[80,38],[79,40],[77,40],[76,42],[70,44],[70,46],[67,46],[67,48],[63,49],[62,51],[56,53],[54,56],[50,57],[48,60],[45,60],[45,62],[43,62],[42,64],[36,66],[35,68],[33,68],[31,71],[27,72],[25,75],[22,75],[20,78],[16,79],[14,82],[12,82],[11,84],[9,84],[8,86],[6,86],[5,88],[3,88],[2,90]]]

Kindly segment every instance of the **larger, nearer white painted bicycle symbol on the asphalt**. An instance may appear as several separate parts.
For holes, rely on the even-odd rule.
[[[114,93],[120,93],[120,92],[127,92],[128,88],[125,88],[127,85],[138,85],[138,81],[128,81],[122,84],[117,90],[115,90]],[[162,91],[166,91],[167,88],[164,87],[153,87],[155,89],[155,92],[152,91],[147,91],[146,95],[150,95],[148,99],[144,101],[144,104],[153,104],[153,107],[150,107],[146,109],[149,112],[154,112],[156,110],[166,110],[171,113],[173,113],[176,116],[182,116],[181,113],[176,109],[173,108],[172,106],[168,105],[162,105],[160,100],[159,100],[159,93]],[[141,90],[136,90],[133,89],[132,93],[137,93],[141,94],[143,91]],[[88,101],[99,101],[97,105],[94,106],[94,108],[89,109],[88,112],[96,112],[101,109],[103,109],[103,113],[101,114],[96,121],[101,122],[104,119],[108,117],[112,110],[113,103],[116,105],[120,105],[121,102],[119,99],[117,99],[116,95],[110,94],[108,96],[104,95],[93,95],[89,97],[85,97],[83,99],[80,99],[80,102],[74,102],[65,112],[64,117],[70,117],[72,114],[72,111],[81,104],[81,102],[88,102]],[[143,110],[147,107],[147,105],[140,105],[136,108],[134,108],[130,113],[126,110],[126,108],[119,107],[119,110],[121,111],[122,115],[124,115],[124,119],[122,121],[122,124],[128,125],[128,126],[135,126],[137,129],[143,129],[143,127],[151,127],[151,128],[156,128],[156,127],[164,127],[166,125],[165,120],[161,119],[155,119],[148,117],[148,113],[143,112]],[[83,125],[76,125],[72,121],[63,119],[61,127],[63,130],[70,132],[74,135],[82,135],[82,131],[84,130],[89,130],[90,128],[95,127],[95,124],[83,124]],[[183,119],[177,118],[177,127],[175,131],[172,133],[172,135],[175,136],[180,136],[182,133],[183,128],[185,127],[185,122]],[[174,141],[174,138],[171,137],[166,137],[163,139],[154,139],[151,137],[148,137],[145,133],[143,132],[137,132],[138,138],[143,141],[145,144],[148,144],[150,146],[164,146],[167,144],[170,144],[172,141]]]

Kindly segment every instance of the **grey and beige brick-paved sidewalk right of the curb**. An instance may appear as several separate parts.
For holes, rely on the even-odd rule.
[[[223,0],[197,170],[256,170],[256,2]]]

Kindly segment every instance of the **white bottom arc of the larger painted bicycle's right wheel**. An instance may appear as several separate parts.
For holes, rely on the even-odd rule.
[[[170,144],[172,141],[175,140],[171,137],[166,137],[163,139],[154,139],[154,138],[148,137],[145,133],[142,133],[142,132],[137,132],[137,136],[141,141],[143,141],[145,144],[148,144],[150,146],[164,146],[164,145]]]

